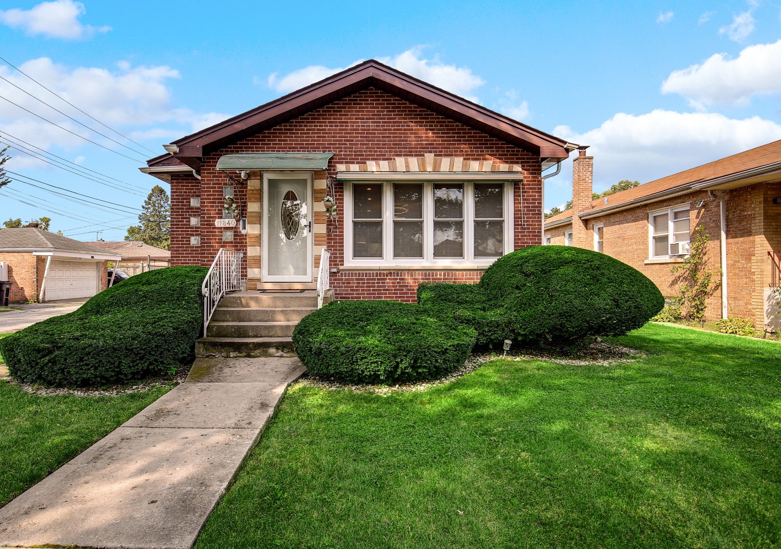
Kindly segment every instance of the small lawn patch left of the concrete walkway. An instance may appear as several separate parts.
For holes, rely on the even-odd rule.
[[[168,390],[40,397],[0,381],[0,507]]]

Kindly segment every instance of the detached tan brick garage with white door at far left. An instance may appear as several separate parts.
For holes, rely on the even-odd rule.
[[[0,229],[0,262],[8,266],[10,303],[91,298],[106,287],[106,262],[120,256],[86,242],[33,228]]]

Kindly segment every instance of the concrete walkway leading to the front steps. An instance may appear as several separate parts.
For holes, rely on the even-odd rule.
[[[188,548],[298,358],[198,358],[187,381],[0,509],[0,547]]]

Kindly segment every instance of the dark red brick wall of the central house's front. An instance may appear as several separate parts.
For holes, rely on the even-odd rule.
[[[171,258],[173,265],[209,265],[219,248],[246,250],[247,238],[238,230],[232,244],[222,242],[222,230],[214,226],[222,215],[224,173],[214,169],[223,154],[237,152],[333,152],[329,175],[336,176],[337,163],[367,160],[393,160],[398,156],[460,156],[465,160],[493,160],[522,165],[523,184],[515,186],[515,248],[540,243],[542,216],[542,178],[540,158],[512,144],[490,137],[461,123],[445,118],[391,94],[375,89],[359,91],[348,98],[280,124],[261,134],[206,156],[201,166],[201,181],[192,176],[172,176],[171,180]],[[246,208],[246,189],[241,187],[241,203]],[[344,204],[344,188],[334,189],[337,204]],[[189,197],[201,197],[201,227],[189,226],[189,216],[197,215],[189,206]],[[331,266],[344,265],[344,219],[327,235],[332,252]],[[201,246],[192,247],[190,236],[199,235]],[[256,245],[252,243],[251,245]],[[385,274],[380,287],[375,273],[342,272],[331,276],[337,299],[366,294],[414,298],[421,280],[460,280],[455,271],[408,271]],[[471,274],[466,278],[472,280]],[[443,279],[444,277],[444,279]],[[371,282],[370,282],[371,281]],[[405,287],[401,290],[401,287]],[[367,296],[368,297],[368,296]]]

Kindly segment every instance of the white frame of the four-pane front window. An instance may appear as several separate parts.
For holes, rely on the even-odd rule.
[[[366,184],[366,181],[344,182],[344,266],[490,266],[497,257],[474,257],[474,200],[475,184],[489,183],[488,181],[463,181],[454,180],[453,184],[464,186],[464,258],[434,258],[433,257],[433,222],[434,222],[434,184],[448,183],[448,181],[430,180],[385,180],[372,181],[373,184],[383,186],[383,256],[381,258],[353,258],[352,256],[352,224],[353,224],[353,184]],[[423,184],[423,258],[398,258],[393,257],[393,222],[394,222],[394,196],[393,185],[398,184]],[[502,255],[515,249],[515,219],[513,208],[513,194],[515,183],[494,182],[504,185],[502,207],[504,209],[504,249]],[[361,221],[366,219],[355,219]]]

